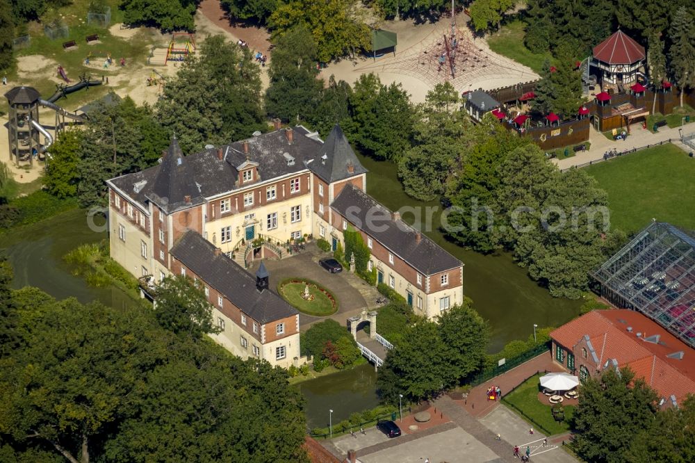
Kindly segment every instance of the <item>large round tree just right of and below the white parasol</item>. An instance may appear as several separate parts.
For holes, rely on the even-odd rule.
[[[630,461],[626,452],[635,436],[655,418],[657,395],[629,368],[608,368],[580,387],[573,416],[573,447],[590,462]]]

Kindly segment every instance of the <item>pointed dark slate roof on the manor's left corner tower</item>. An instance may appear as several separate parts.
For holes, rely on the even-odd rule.
[[[159,165],[150,196],[155,204],[167,211],[186,204],[186,196],[190,196],[190,202],[200,196],[193,172],[186,168],[186,159],[176,136],[172,137],[167,154]]]

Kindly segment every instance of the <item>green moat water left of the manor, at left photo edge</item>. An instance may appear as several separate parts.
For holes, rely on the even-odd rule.
[[[1,235],[0,254],[6,255],[14,268],[13,288],[36,286],[56,299],[74,297],[82,303],[99,300],[111,307],[133,304],[129,295],[113,286],[88,286],[83,278],[72,275],[72,266],[63,261],[75,247],[104,238],[106,231],[92,232],[85,211],[75,209]]]

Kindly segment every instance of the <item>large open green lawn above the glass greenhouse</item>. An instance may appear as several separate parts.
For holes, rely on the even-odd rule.
[[[695,229],[695,159],[661,145],[586,168],[608,193],[610,224],[637,232],[652,218]]]

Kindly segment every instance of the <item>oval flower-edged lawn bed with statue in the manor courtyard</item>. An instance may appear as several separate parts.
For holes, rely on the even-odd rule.
[[[306,289],[309,288],[309,295]],[[277,285],[277,292],[292,307],[311,316],[329,316],[338,311],[338,301],[323,286],[309,279],[288,278]]]

